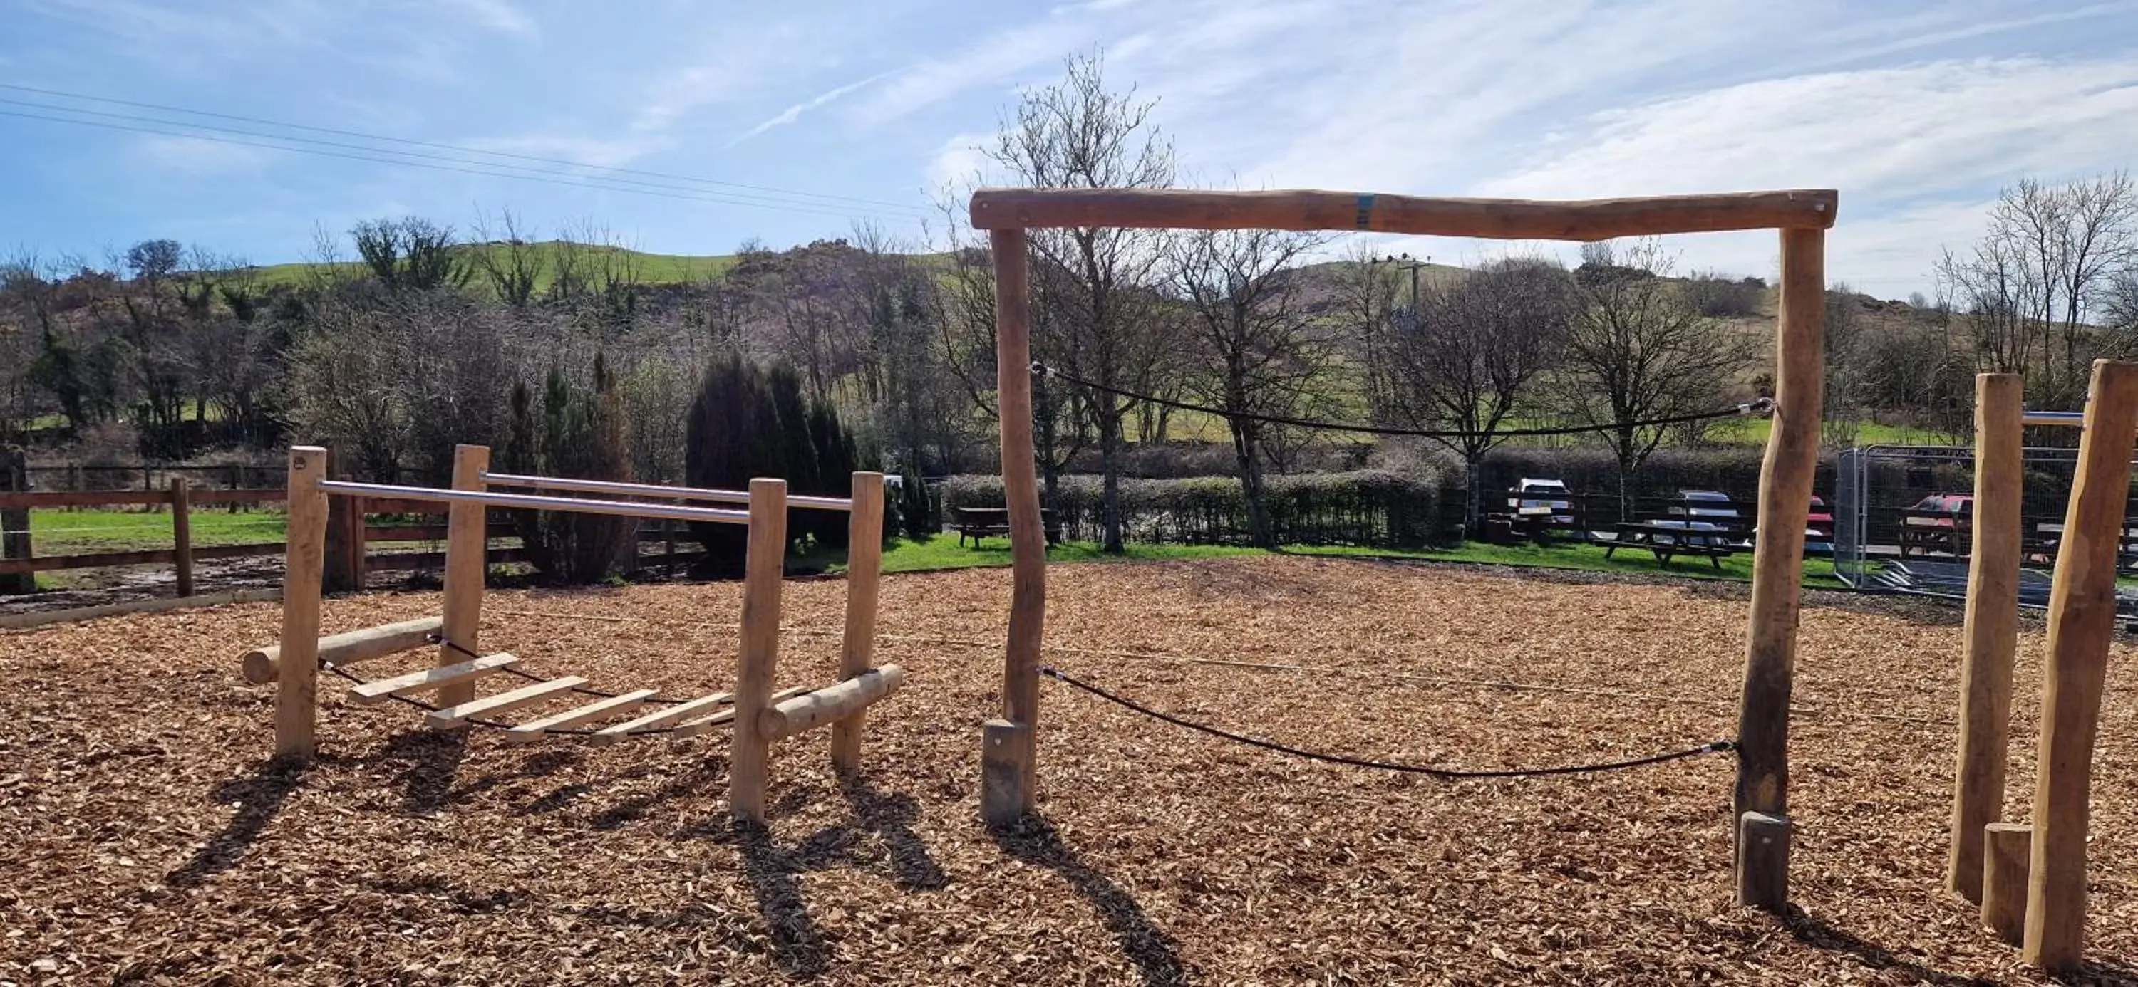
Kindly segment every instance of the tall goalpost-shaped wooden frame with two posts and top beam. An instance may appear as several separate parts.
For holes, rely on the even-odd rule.
[[[1787,899],[1790,682],[1804,560],[1804,515],[1819,455],[1826,318],[1826,229],[1839,192],[1790,190],[1666,199],[1514,201],[1413,199],[1358,192],[1189,192],[1144,188],[983,188],[973,229],[994,250],[996,402],[1003,494],[1009,506],[1011,602],[1003,716],[981,733],[981,816],[1009,825],[1031,812],[1039,724],[1039,647],[1045,632],[1045,532],[1033,464],[1031,261],[1026,229],[1287,229],[1373,231],[1490,239],[1612,239],[1668,233],[1781,231],[1775,333],[1775,427],[1760,468],[1751,632],[1738,716],[1732,829],[1753,827],[1760,852],[1738,842],[1738,902],[1779,910]]]

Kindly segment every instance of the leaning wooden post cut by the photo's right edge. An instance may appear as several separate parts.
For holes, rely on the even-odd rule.
[[[2117,547],[2138,442],[2138,363],[2093,361],[2078,472],[2048,590],[2048,667],[2033,776],[2033,857],[2027,865],[2029,964],[2078,968],[2087,931],[2087,797],[2102,718],[2108,643],[2117,630]]]

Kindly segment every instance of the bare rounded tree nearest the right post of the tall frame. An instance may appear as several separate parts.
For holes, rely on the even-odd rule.
[[[1663,440],[1644,421],[1715,406],[1751,361],[1751,342],[1704,318],[1670,282],[1657,241],[1584,244],[1567,323],[1556,406],[1593,425],[1618,459],[1618,515],[1633,517],[1633,476]]]

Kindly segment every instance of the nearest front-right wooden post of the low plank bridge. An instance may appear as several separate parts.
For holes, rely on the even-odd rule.
[[[735,658],[735,741],[729,746],[727,810],[765,820],[772,741],[759,720],[772,705],[780,658],[780,577],[787,568],[787,481],[750,481],[750,545],[742,560],[742,647]]]

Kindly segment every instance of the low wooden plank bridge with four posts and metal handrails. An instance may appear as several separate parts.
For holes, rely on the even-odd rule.
[[[351,703],[410,701],[425,709],[430,728],[458,731],[494,726],[507,741],[575,735],[592,743],[633,737],[695,737],[714,726],[733,726],[729,810],[763,822],[765,776],[772,746],[795,733],[832,726],[832,765],[840,773],[859,771],[862,718],[879,699],[904,682],[898,664],[874,667],[877,594],[883,570],[883,474],[855,472],[851,498],[789,498],[787,481],[753,479],[748,491],[663,487],[648,483],[579,481],[562,476],[520,476],[490,472],[490,449],[460,446],[453,453],[453,487],[400,487],[346,483],[323,476],[327,451],[289,451],[289,555],[282,585],[282,637],[272,647],[242,656],[248,682],[276,686],[274,750],[308,761],[316,752],[316,688],[321,669],[438,645],[432,669],[357,682]],[[601,494],[603,498],[511,494],[494,487]],[[321,575],[327,543],[327,498],[398,498],[449,504],[445,551],[445,602],[438,615],[319,634]],[[633,498],[633,500],[624,500]],[[701,506],[744,504],[742,511]],[[485,513],[490,508],[571,511],[618,517],[665,517],[684,521],[748,526],[748,558],[742,583],[742,645],[733,692],[697,699],[661,699],[659,690],[597,692],[577,675],[539,677],[520,669],[513,654],[481,654],[477,630],[483,613]],[[825,688],[774,692],[780,645],[780,588],[787,558],[787,511],[845,511],[849,515],[847,630],[840,649],[840,682]],[[500,673],[530,679],[517,688],[477,694],[477,686]],[[417,694],[434,701],[415,701]],[[594,696],[571,709],[520,724],[492,720],[498,714],[552,703],[562,696]],[[646,714],[648,705],[656,705]],[[626,714],[626,720],[618,720]]]

